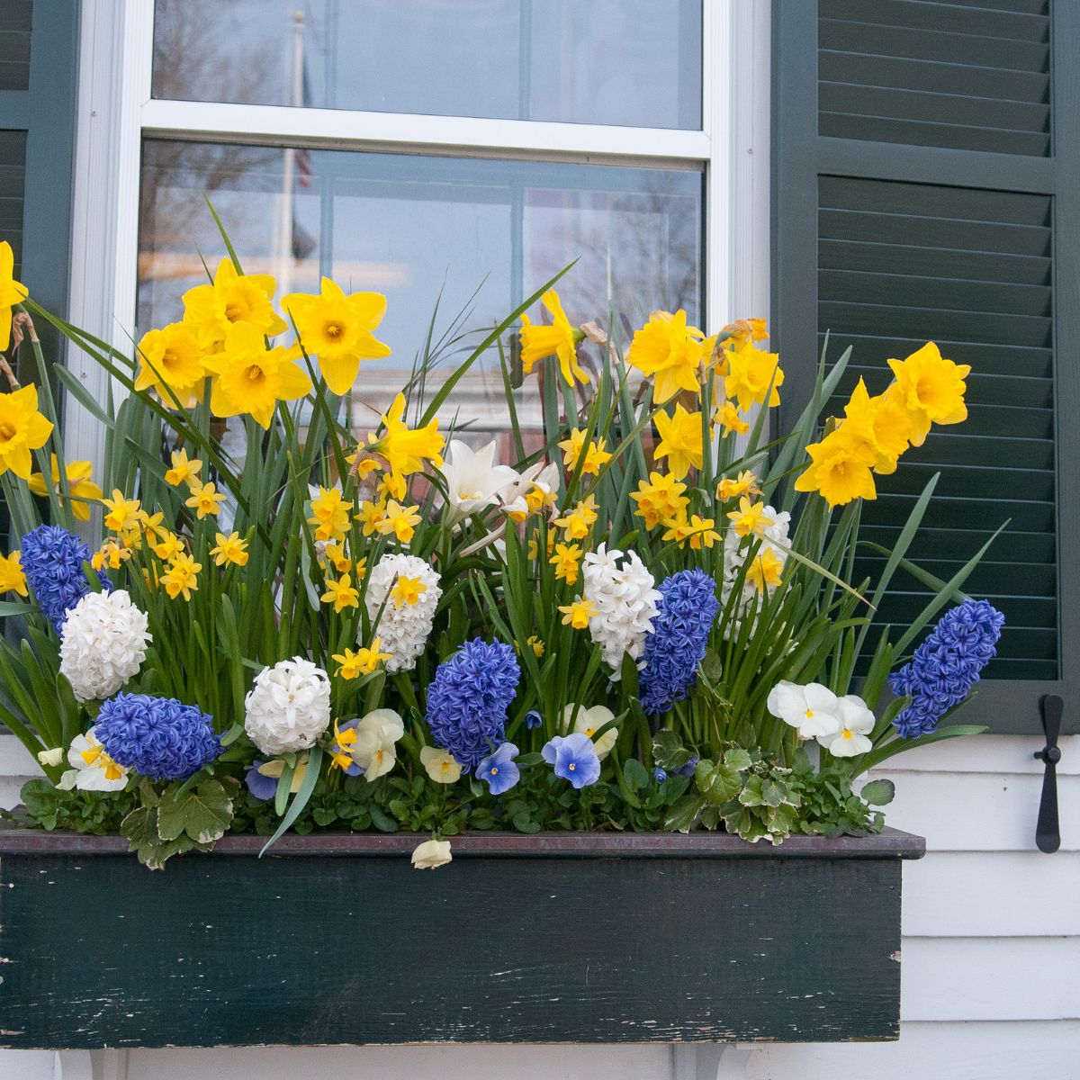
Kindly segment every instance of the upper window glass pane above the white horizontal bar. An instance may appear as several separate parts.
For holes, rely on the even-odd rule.
[[[701,127],[701,0],[157,0],[154,97]]]

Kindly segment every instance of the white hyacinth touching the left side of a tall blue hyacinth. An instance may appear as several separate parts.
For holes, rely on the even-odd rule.
[[[622,566],[619,559],[622,558]],[[599,645],[611,678],[622,675],[622,658],[629,653],[636,661],[645,649],[645,638],[652,630],[660,592],[656,581],[636,552],[625,557],[618,549],[607,551],[600,544],[585,555],[581,569],[583,596],[592,600],[593,615],[589,633]]]

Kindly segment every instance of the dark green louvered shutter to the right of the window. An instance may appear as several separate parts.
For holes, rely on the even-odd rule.
[[[1080,648],[1080,3],[774,0],[773,17],[787,401],[809,396],[826,332],[834,359],[853,348],[835,413],[928,339],[972,365],[968,422],[879,477],[863,535],[891,545],[939,471],[913,557],[940,578],[1011,518],[966,586],[1008,620],[967,716],[1040,731],[1042,694],[1077,701]],[[879,618],[926,599],[905,576]]]

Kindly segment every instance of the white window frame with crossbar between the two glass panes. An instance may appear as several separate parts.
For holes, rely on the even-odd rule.
[[[156,100],[153,0],[83,0],[70,318],[130,351],[135,326],[144,138],[703,168],[705,321],[769,309],[769,0],[703,0],[702,126],[413,116]],[[105,374],[68,363],[95,397]],[[68,396],[68,456],[100,465],[104,432]]]

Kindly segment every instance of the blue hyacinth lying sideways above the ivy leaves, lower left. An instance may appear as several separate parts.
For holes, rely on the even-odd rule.
[[[113,761],[152,780],[187,780],[221,753],[211,717],[174,698],[118,693],[103,703],[94,733]]]

